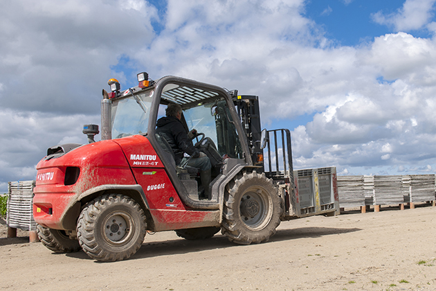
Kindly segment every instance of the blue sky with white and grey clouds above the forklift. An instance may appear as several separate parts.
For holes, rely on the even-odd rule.
[[[435,173],[435,0],[3,4],[0,193],[34,179],[48,147],[86,143],[107,80],[140,71],[259,96],[296,168]]]

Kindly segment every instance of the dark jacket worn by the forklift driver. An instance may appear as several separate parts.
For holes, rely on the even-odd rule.
[[[159,118],[156,126],[156,133],[170,144],[176,156],[176,165],[180,164],[183,159],[183,152],[192,157],[199,157],[199,151],[192,145],[192,141],[188,138],[185,127],[179,118],[174,116]]]

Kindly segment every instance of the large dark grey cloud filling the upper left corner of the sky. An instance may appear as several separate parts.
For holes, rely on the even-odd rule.
[[[2,107],[74,114],[98,108],[100,96],[94,92],[109,79],[110,65],[154,37],[155,10],[128,8],[134,3],[140,1],[5,3],[0,11]]]

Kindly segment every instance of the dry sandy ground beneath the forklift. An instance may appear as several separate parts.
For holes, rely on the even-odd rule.
[[[397,209],[397,208],[396,208]],[[0,229],[1,290],[436,290],[436,207],[282,222],[269,243],[148,235],[127,261],[53,254]]]

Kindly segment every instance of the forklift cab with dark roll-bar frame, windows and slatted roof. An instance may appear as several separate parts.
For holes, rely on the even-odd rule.
[[[228,91],[194,80],[167,76],[148,87],[134,87],[119,95],[120,98],[113,98],[111,103],[111,136],[146,136],[163,162],[174,188],[188,206],[218,209],[218,186],[224,181],[223,176],[236,166],[253,165],[244,129]],[[210,200],[199,200],[201,188],[197,186],[197,173],[183,164],[175,167],[172,150],[161,136],[156,135],[156,121],[165,115],[165,107],[170,103],[181,105],[181,122],[185,130],[197,130],[194,146],[210,159]]]

